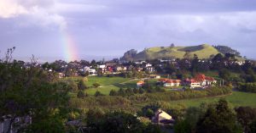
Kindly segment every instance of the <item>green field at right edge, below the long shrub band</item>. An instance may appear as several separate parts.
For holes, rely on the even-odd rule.
[[[221,97],[204,97],[196,99],[186,99],[172,101],[173,105],[183,104],[186,107],[198,107],[201,103],[214,103],[217,102]],[[256,93],[248,93],[241,91],[233,91],[231,95],[224,96],[224,98],[231,104],[233,107],[237,106],[251,106],[256,108]]]

